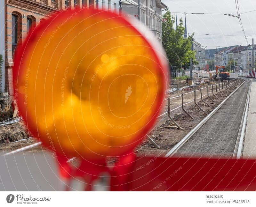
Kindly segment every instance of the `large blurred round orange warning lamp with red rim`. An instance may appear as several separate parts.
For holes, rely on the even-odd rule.
[[[58,13],[16,56],[20,113],[33,136],[61,154],[102,159],[131,152],[163,102],[162,49],[114,13]]]

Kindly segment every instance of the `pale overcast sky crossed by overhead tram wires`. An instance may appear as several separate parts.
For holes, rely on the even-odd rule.
[[[235,0],[162,0],[162,2],[168,6],[175,17],[176,12],[220,13],[237,16]],[[248,44],[252,44],[252,38],[254,38],[254,43],[256,44],[256,11],[252,11],[256,10],[256,0],[238,0],[238,6]],[[248,13],[242,14],[243,12]],[[185,14],[177,13],[177,16],[178,19],[183,18],[185,22]],[[227,47],[247,44],[239,20],[236,17],[213,14],[187,14],[186,16],[187,32],[195,32],[195,40],[201,43],[202,46],[207,46],[206,49],[217,48],[217,46]]]

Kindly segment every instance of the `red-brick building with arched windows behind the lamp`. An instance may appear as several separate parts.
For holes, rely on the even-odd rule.
[[[121,4],[119,0],[108,0],[106,3],[105,0],[0,0],[0,54],[4,60],[0,71],[0,91],[14,95],[13,56],[30,29],[58,11],[86,7],[103,8],[119,13]]]

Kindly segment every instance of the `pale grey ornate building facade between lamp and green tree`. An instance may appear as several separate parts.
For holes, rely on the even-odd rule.
[[[152,31],[158,42],[162,42],[162,9],[167,6],[161,0],[121,0],[122,14],[140,21],[140,26]]]

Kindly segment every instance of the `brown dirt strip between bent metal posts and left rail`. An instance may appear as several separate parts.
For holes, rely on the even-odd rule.
[[[242,87],[242,86],[241,86]],[[216,107],[222,100],[224,100],[231,92],[226,94],[223,97],[219,97],[216,99],[212,96],[212,99],[215,101],[212,102],[209,98],[204,97],[204,100],[211,105],[212,107]],[[191,96],[191,94],[190,94]],[[194,97],[194,94],[193,94]],[[190,97],[191,99],[192,97]],[[231,97],[230,97],[231,98]],[[188,102],[188,98],[186,98],[186,102]],[[185,103],[186,103],[185,102]],[[198,102],[198,100],[197,100]],[[188,132],[193,129],[199,122],[201,122],[204,117],[206,117],[213,108],[208,107],[204,102],[199,101],[198,105],[204,109],[205,112],[201,112],[197,107],[194,106],[194,102],[185,106],[185,110],[189,112],[189,114],[194,118],[191,119],[186,115],[181,108],[173,111],[171,113],[171,117],[182,127],[184,130],[169,128],[170,119],[168,115],[164,115],[159,118],[156,122],[155,127],[148,134],[150,138],[154,140],[154,142],[160,147],[157,149],[151,142],[145,140],[140,146],[136,149],[137,156],[145,156],[145,155],[164,155],[166,154],[175,144],[177,144],[183,137],[185,137]],[[171,109],[179,106],[178,103],[172,103]],[[164,110],[167,110],[167,105],[164,107]],[[169,123],[169,124],[168,124]],[[214,123],[210,123],[210,128],[214,128]]]

